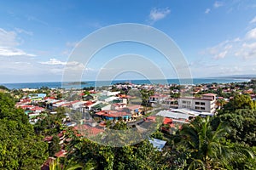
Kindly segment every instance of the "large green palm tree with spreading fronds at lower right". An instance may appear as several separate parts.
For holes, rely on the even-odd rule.
[[[181,144],[186,144],[191,157],[188,169],[232,169],[232,163],[253,154],[239,144],[227,144],[229,128],[219,124],[212,129],[210,118],[198,117],[180,131]]]

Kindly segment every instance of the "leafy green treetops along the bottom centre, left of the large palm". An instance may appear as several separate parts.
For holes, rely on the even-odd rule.
[[[88,169],[164,169],[167,164],[163,153],[155,150],[148,140],[124,147],[104,146],[89,139],[75,140],[67,158]]]

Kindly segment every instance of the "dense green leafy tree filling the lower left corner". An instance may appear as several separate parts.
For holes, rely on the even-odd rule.
[[[48,157],[47,148],[9,94],[0,93],[0,168],[38,169]]]

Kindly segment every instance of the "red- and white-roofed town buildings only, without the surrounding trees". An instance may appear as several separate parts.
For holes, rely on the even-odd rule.
[[[195,116],[213,116],[219,108],[218,99],[224,99],[226,102],[229,99],[220,97],[217,93],[203,93],[203,92],[218,92],[232,93],[233,91],[241,92],[241,94],[250,94],[252,99],[255,99],[253,89],[246,90],[239,87],[230,87],[231,85],[224,84],[203,84],[197,86],[187,86],[178,88],[178,85],[136,85],[136,84],[118,84],[114,88],[116,91],[109,90],[90,90],[86,93],[80,89],[73,89],[72,92],[61,89],[61,96],[72,97],[71,99],[58,99],[56,94],[34,94],[33,91],[27,90],[26,94],[16,104],[16,107],[24,109],[26,115],[29,117],[31,123],[35,123],[40,119],[40,115],[55,114],[56,109],[64,107],[68,109],[63,124],[67,127],[72,127],[79,131],[78,135],[85,135],[83,130],[86,129],[87,136],[95,136],[99,133],[104,133],[108,122],[114,124],[115,122],[126,122],[127,125],[136,125],[142,122],[152,122],[156,116],[163,117],[162,130],[166,133],[173,133],[177,128],[182,127],[183,123],[189,123]],[[146,90],[154,91],[154,94],[148,96],[148,105],[153,109],[148,110],[139,104],[134,104],[134,96],[121,93],[123,90]],[[172,94],[185,94],[189,92],[190,95],[173,98]],[[202,94],[201,94],[202,93]],[[171,94],[171,95],[170,95]],[[194,94],[194,95],[193,95]],[[195,95],[201,94],[201,95]],[[77,98],[73,98],[76,95]],[[60,95],[59,95],[60,96]],[[194,96],[194,97],[193,97]],[[195,97],[196,96],[196,97]],[[147,111],[148,110],[148,111]],[[80,112],[81,116],[73,119],[73,115]],[[154,112],[148,117],[145,117],[149,112]],[[65,143],[69,140],[65,138],[65,133],[58,134],[61,142]],[[44,140],[51,142],[52,137],[46,137]],[[151,140],[153,144],[160,145],[161,148],[165,145],[164,141],[157,139]],[[157,144],[158,143],[158,144]],[[65,156],[65,150],[56,153],[56,157]]]

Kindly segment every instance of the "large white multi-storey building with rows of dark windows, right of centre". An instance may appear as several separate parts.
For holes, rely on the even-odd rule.
[[[201,98],[184,97],[177,99],[178,108],[189,108],[195,111],[215,112],[216,94],[203,94]]]

